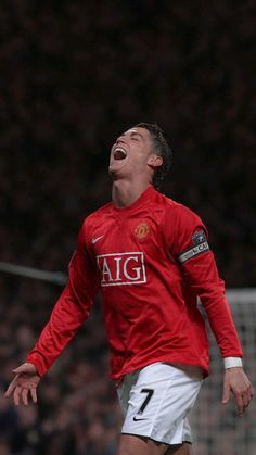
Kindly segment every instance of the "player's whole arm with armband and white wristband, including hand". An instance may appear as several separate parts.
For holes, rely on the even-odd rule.
[[[201,299],[225,362],[222,403],[229,401],[231,391],[242,414],[253,389],[242,368],[241,343],[225,295],[225,283],[209,250],[207,230],[196,214],[179,205],[171,223],[166,219],[166,232],[167,244],[180,264],[187,285]]]

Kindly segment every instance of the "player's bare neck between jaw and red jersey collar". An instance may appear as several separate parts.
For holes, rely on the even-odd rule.
[[[124,208],[133,204],[137,199],[150,187],[149,182],[131,184],[130,181],[116,180],[112,187],[112,201],[115,207]]]

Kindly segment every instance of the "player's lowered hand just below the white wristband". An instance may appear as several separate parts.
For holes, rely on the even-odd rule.
[[[227,404],[229,402],[230,391],[234,395],[238,412],[242,415],[254,395],[253,387],[242,367],[226,369],[223,378],[222,404]]]

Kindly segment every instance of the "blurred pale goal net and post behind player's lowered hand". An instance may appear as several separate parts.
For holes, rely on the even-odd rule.
[[[227,292],[244,351],[244,368],[255,389],[256,378],[256,289]],[[215,339],[210,339],[210,376],[201,390],[190,416],[195,455],[256,455],[255,399],[241,417],[233,399],[221,404],[223,366]]]

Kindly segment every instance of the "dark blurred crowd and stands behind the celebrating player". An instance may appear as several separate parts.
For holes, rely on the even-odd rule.
[[[3,0],[0,24],[0,261],[66,273],[82,219],[110,200],[116,136],[157,122],[174,151],[163,192],[204,219],[227,287],[253,288],[255,1]],[[2,390],[60,292],[0,274]],[[236,314],[245,334],[251,321],[255,378],[255,302],[245,306]],[[97,301],[43,379],[38,407],[14,409],[1,393],[0,455],[114,455],[121,417],[107,374]],[[206,395],[220,408],[215,384]],[[196,455],[254,455],[255,408],[238,422],[210,403],[202,403]]]

